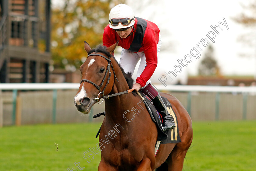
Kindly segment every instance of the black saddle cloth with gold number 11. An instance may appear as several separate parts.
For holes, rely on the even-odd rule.
[[[141,91],[139,91],[139,93],[142,97],[145,97],[145,95]],[[145,106],[147,107],[147,110],[151,116],[151,119],[156,124],[157,131],[158,131],[157,141],[161,141],[161,144],[181,142],[176,114],[172,110],[172,105],[168,101],[168,99],[166,99],[165,97],[162,97],[162,99],[163,99],[163,102],[165,103],[165,106],[167,107],[168,112],[172,115],[172,118],[176,125],[175,128],[171,130],[166,130],[165,132],[162,130],[162,125],[161,125],[163,121],[162,116],[159,115],[158,111],[155,109],[155,106],[152,104],[152,102],[148,98],[142,99]]]

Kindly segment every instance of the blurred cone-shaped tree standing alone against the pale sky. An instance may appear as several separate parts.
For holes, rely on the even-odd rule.
[[[209,45],[208,49],[205,52],[205,56],[198,67],[199,75],[220,75],[219,66],[217,65],[217,61],[214,59],[213,51],[213,47]]]

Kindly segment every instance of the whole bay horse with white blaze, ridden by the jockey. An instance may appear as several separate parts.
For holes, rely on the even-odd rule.
[[[80,67],[82,81],[74,97],[77,110],[84,114],[88,114],[102,97],[106,98],[105,118],[97,144],[101,151],[98,170],[181,171],[192,143],[192,121],[189,114],[174,96],[160,93],[170,101],[176,113],[181,142],[161,144],[155,156],[158,136],[156,125],[145,104],[140,103],[140,96],[134,92],[127,93],[133,80],[111,55],[117,44],[108,48],[98,46],[91,50],[85,42],[84,49],[88,57]]]

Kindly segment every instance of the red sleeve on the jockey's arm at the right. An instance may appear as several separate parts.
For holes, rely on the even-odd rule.
[[[155,68],[157,66],[158,36],[159,32],[155,33],[154,30],[149,30],[148,33],[145,33],[142,45],[146,56],[146,67],[144,71],[140,74],[140,77],[136,79],[136,82],[139,83],[141,87],[144,87],[146,85],[147,81],[155,72]]]

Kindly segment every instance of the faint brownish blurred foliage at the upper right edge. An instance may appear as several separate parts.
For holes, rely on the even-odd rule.
[[[248,5],[243,5],[242,7],[245,9],[243,13],[241,13],[239,16],[233,17],[233,20],[237,23],[240,23],[248,28],[251,28],[251,31],[249,33],[242,34],[239,37],[239,40],[246,44],[249,47],[256,48],[256,0],[253,0],[249,2]],[[253,50],[254,56],[256,51]],[[248,54],[248,51],[245,53],[242,53],[241,56],[251,56]]]

